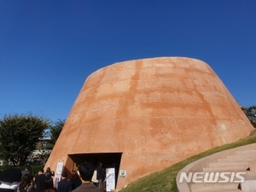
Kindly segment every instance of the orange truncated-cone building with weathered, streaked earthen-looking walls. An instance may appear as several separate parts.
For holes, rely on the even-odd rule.
[[[160,57],[90,74],[45,167],[84,160],[115,167],[116,189],[253,131],[229,90],[203,61]],[[121,174],[123,175],[120,175]]]

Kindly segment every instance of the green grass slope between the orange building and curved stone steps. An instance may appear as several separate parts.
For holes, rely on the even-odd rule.
[[[166,169],[160,172],[154,172],[148,175],[147,177],[143,177],[129,184],[125,189],[122,189],[121,192],[177,192],[177,172],[179,172],[184,166],[189,165],[189,163],[195,160],[199,160],[203,157],[206,157],[209,154],[214,154],[219,151],[223,151],[230,148],[236,148],[251,143],[256,143],[256,134],[253,134],[252,136],[246,138],[242,138],[236,143],[229,143],[217,148],[212,148],[201,154],[196,154],[187,160],[183,160],[181,162],[178,162],[177,164],[167,167]]]

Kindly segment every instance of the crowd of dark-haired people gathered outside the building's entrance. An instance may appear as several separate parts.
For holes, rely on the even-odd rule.
[[[104,192],[106,172],[102,168],[102,162],[95,168],[90,162],[79,165],[78,171],[72,172],[72,178],[67,178],[67,172],[61,173],[61,181],[54,186],[52,172],[48,167],[46,172],[40,170],[32,179],[26,167],[21,172],[22,177],[17,192]],[[94,178],[95,177],[95,178]]]

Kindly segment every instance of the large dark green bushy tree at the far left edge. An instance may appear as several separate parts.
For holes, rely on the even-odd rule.
[[[5,114],[0,119],[0,157],[10,161],[13,166],[25,166],[28,155],[36,149],[38,138],[47,127],[47,119],[32,113]]]

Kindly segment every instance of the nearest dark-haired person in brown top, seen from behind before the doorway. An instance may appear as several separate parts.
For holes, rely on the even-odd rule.
[[[102,192],[101,189],[97,188],[91,183],[91,177],[95,170],[95,166],[92,163],[84,162],[79,166],[79,176],[82,178],[82,184],[77,188],[73,189],[72,192]]]

